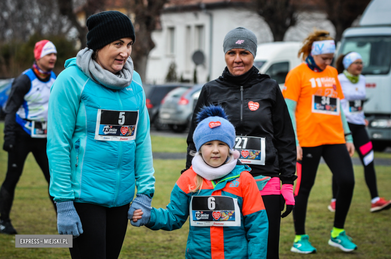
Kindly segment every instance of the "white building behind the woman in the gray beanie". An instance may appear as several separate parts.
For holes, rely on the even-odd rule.
[[[185,5],[188,2],[202,4]],[[230,4],[227,1],[204,0],[182,3],[167,7],[160,17],[162,29],[152,33],[156,47],[148,57],[147,83],[163,83],[172,62],[176,65],[178,79],[182,76],[192,81],[195,64],[191,57],[197,50],[205,54],[204,63],[197,66],[198,82],[205,83],[208,79],[218,78],[226,67],[224,37],[237,27],[253,31],[258,44],[273,41],[267,23],[255,12],[238,6],[238,2]],[[332,35],[335,31],[324,14],[303,13],[299,15],[297,26],[287,31],[284,40],[303,40],[315,24],[317,29],[328,30]]]

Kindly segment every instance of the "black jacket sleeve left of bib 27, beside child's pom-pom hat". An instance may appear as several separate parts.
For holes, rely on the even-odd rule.
[[[186,141],[187,142],[186,169],[183,169],[181,171],[181,173],[183,173],[184,171],[189,169],[191,166],[191,160],[193,159],[193,157],[189,154],[190,151],[191,150],[194,152],[197,151],[195,149],[195,145],[193,142],[193,133],[194,133],[195,128],[197,127],[197,114],[206,105],[208,105],[208,95],[207,95],[206,87],[204,86],[201,90],[197,104],[195,105],[195,108],[194,108],[193,116],[191,118],[190,129],[189,129],[189,132],[187,135],[187,141]]]

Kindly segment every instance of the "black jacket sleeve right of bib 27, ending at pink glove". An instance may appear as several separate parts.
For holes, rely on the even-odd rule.
[[[282,184],[293,184],[297,178],[296,172],[296,140],[288,107],[278,84],[276,88],[276,103],[272,110],[275,147],[278,151],[280,179]]]

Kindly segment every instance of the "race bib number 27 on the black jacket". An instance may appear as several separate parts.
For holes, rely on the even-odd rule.
[[[234,149],[242,163],[265,165],[265,138],[236,136]]]

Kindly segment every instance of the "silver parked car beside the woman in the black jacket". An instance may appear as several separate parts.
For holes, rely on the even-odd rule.
[[[181,86],[169,92],[159,109],[160,122],[167,124],[174,132],[183,132],[191,122],[203,86]]]

